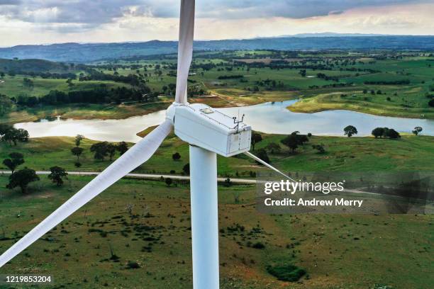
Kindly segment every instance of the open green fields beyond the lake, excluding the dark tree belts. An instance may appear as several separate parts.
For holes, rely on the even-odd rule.
[[[284,101],[301,98],[302,101],[291,106],[292,111],[313,113],[316,111],[347,109],[361,111],[375,115],[391,115],[407,118],[434,118],[434,108],[428,106],[427,94],[433,94],[434,67],[433,57],[422,56],[423,53],[404,52],[335,52],[309,55],[299,53],[299,58],[291,59],[290,63],[312,61],[312,65],[325,65],[328,69],[306,69],[306,77],[300,74],[298,68],[274,68],[235,66],[233,60],[245,63],[264,62],[269,63],[270,57],[275,52],[269,51],[235,51],[221,52],[212,57],[211,52],[197,53],[194,58],[195,64],[216,64],[211,69],[192,69],[195,75],[189,77],[189,86],[201,86],[215,97],[190,98],[191,102],[204,102],[211,106],[245,106],[266,101]],[[389,57],[376,59],[379,55],[394,55],[401,59]],[[252,57],[242,58],[240,57]],[[260,58],[258,58],[260,57]],[[310,57],[310,58],[309,58]],[[106,69],[109,65],[122,65],[116,68],[116,73],[126,76],[128,74],[140,74],[145,77],[146,85],[151,91],[162,91],[163,86],[175,84],[174,69],[169,64],[174,64],[174,57],[167,59],[113,62],[96,62],[93,65],[104,65],[99,69],[106,74],[114,74],[113,69]],[[160,65],[156,69],[156,65]],[[147,65],[147,67],[131,67],[131,65]],[[369,70],[371,69],[371,70]],[[160,73],[158,73],[160,72]],[[333,79],[318,78],[318,74]],[[145,76],[146,75],[146,76]],[[242,79],[219,79],[222,76],[243,75]],[[127,84],[114,81],[73,81],[74,86],[69,87],[65,79],[42,79],[33,78],[34,86],[28,88],[23,84],[23,76],[11,77],[6,75],[1,79],[0,94],[10,97],[18,97],[25,94],[28,96],[42,96],[52,89],[60,91],[92,89],[100,84],[106,84],[109,89]],[[365,81],[402,81],[408,80],[408,84],[365,84]],[[265,84],[265,81],[274,81],[275,86]],[[367,91],[366,94],[363,91]],[[375,94],[371,94],[374,91]],[[382,94],[377,94],[381,91]],[[343,96],[341,96],[343,95]],[[160,98],[161,102],[171,102],[173,95],[167,93]],[[65,106],[56,108],[26,108],[23,111],[3,116],[0,120],[16,123],[19,121],[32,120],[26,113],[36,115],[50,115],[49,111],[57,111],[65,114],[65,117],[79,118],[125,118],[132,115],[148,113],[133,103],[124,104],[123,107],[110,109],[113,105],[103,106],[104,113],[96,113],[98,109],[87,111],[77,110],[72,106],[68,110]]]

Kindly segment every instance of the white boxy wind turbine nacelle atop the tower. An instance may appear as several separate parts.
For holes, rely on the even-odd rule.
[[[172,111],[174,109],[174,112]],[[250,150],[252,128],[205,104],[185,104],[169,108],[174,133],[190,145],[208,149],[223,157]]]

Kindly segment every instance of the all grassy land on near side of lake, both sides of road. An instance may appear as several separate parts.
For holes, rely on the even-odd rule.
[[[280,144],[282,135],[262,135],[255,149]],[[434,137],[311,137],[305,147],[271,154],[284,171],[430,171]],[[82,171],[100,171],[83,140]],[[311,148],[323,144],[325,154]],[[10,147],[0,142],[0,159],[24,154],[32,169],[74,167],[72,137],[30,139]],[[179,152],[181,160],[172,154]],[[116,155],[116,157],[118,157]],[[136,171],[181,174],[188,145],[174,135]],[[4,168],[3,168],[4,169]],[[218,158],[221,176],[249,177],[267,171],[246,157]],[[0,175],[0,251],[7,249],[92,179],[69,176],[62,187],[47,176],[23,196],[7,190]],[[219,186],[221,288],[430,288],[432,215],[267,215],[256,210],[255,186]],[[131,213],[128,206],[133,205]],[[51,275],[67,288],[191,288],[189,184],[122,179],[35,242],[0,273]],[[257,245],[261,244],[261,245]],[[261,249],[262,248],[262,249]],[[129,268],[135,262],[140,268]],[[87,264],[87,266],[83,266]],[[298,283],[277,280],[269,265],[294,265],[307,275]]]

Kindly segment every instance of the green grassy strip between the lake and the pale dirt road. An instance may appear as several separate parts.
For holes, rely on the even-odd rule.
[[[274,142],[282,148],[279,153],[270,153],[271,162],[282,171],[430,171],[434,151],[434,137],[404,135],[401,140],[375,139],[374,137],[316,137],[310,138],[305,147],[291,154],[280,143],[282,135],[262,135],[264,140],[255,149],[265,148]],[[101,171],[111,162],[94,160],[90,152],[93,140],[84,140],[84,152],[80,157],[82,171]],[[325,154],[318,154],[311,145],[323,144]],[[26,164],[36,170],[48,170],[50,166],[62,166],[67,170],[76,170],[76,158],[70,149],[74,147],[72,137],[41,137],[30,139],[28,143],[18,143],[9,147],[0,142],[0,159],[10,152],[21,152]],[[179,152],[181,159],[174,161],[172,154]],[[167,138],[160,149],[148,162],[135,171],[143,173],[182,174],[182,168],[189,162],[189,147],[179,138]],[[118,157],[118,154],[116,154]],[[116,158],[115,157],[115,158]],[[0,168],[6,169],[3,164]],[[244,155],[238,157],[218,157],[218,174],[229,177],[250,177],[250,171],[267,171]]]

